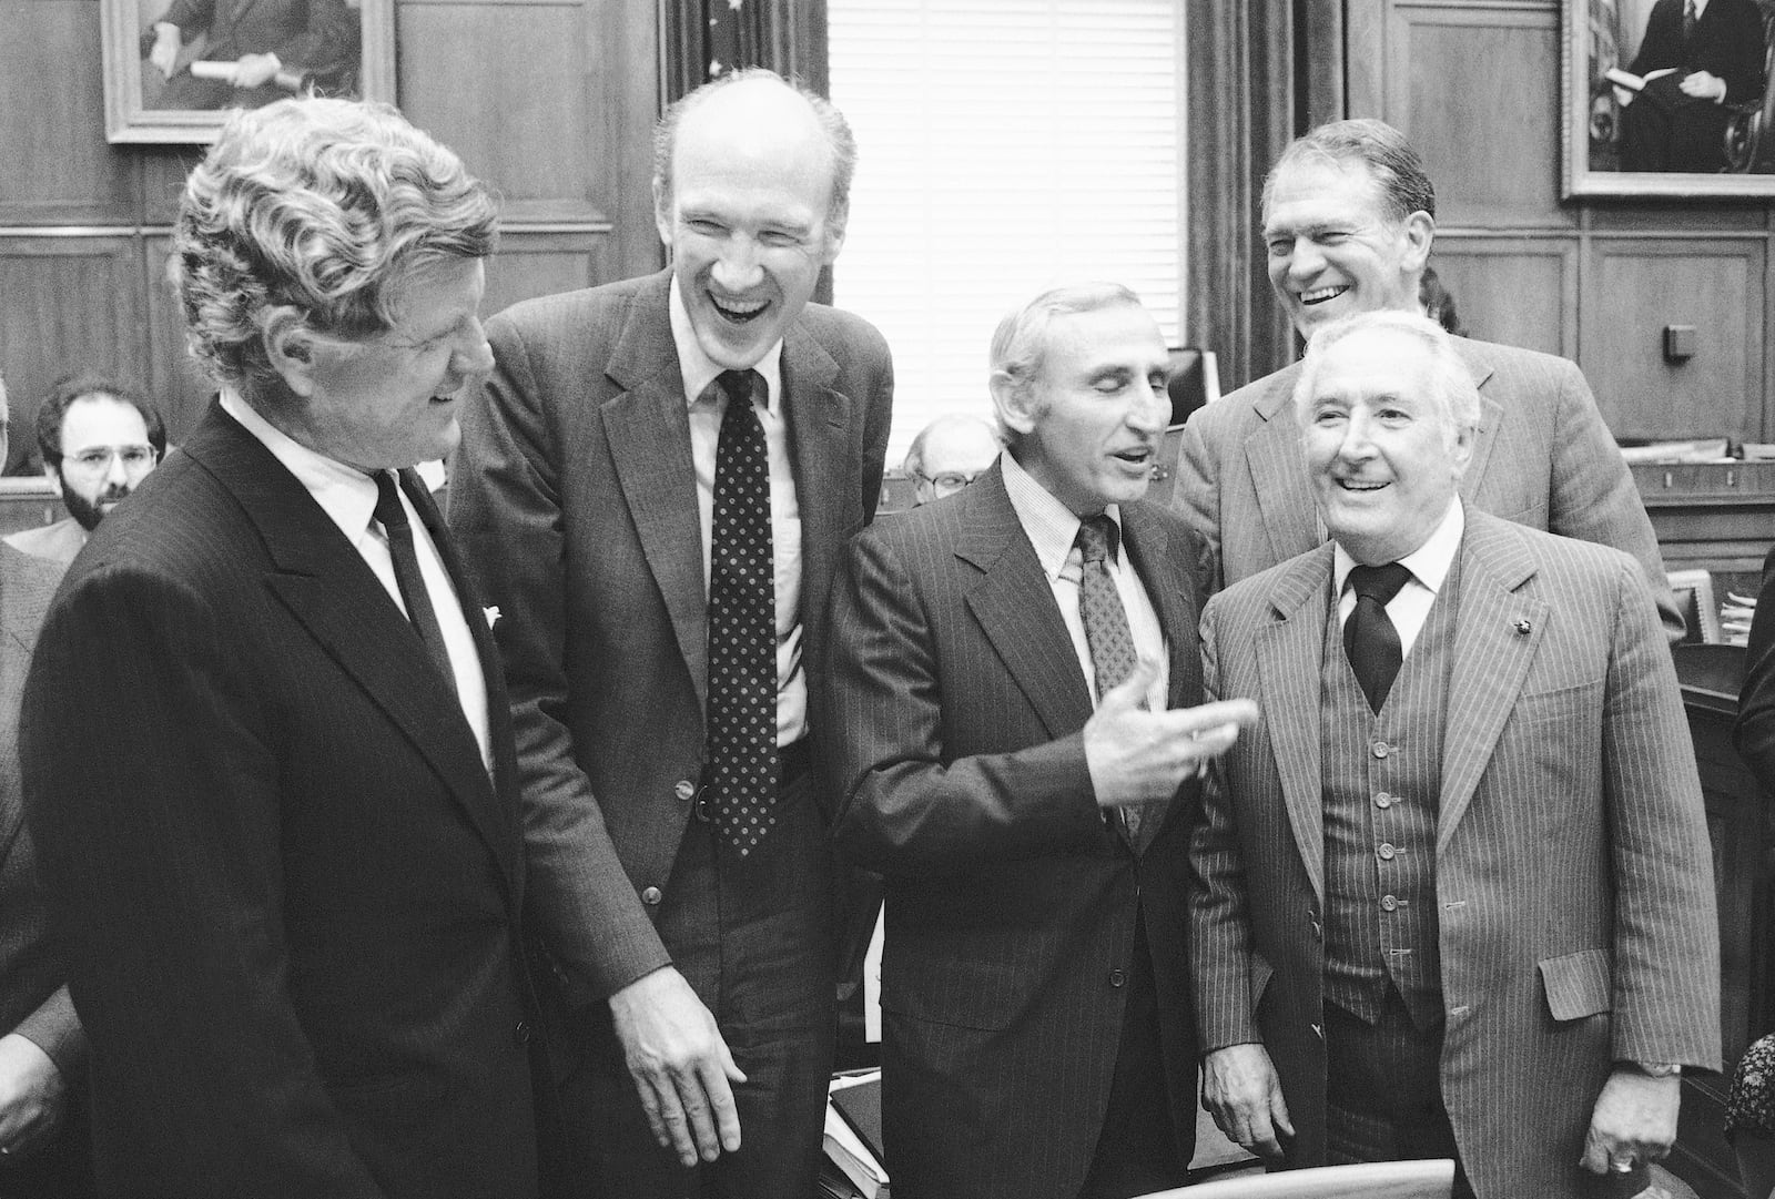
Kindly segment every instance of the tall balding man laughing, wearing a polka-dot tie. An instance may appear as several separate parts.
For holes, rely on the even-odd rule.
[[[809,1195],[836,921],[808,686],[893,371],[808,303],[856,161],[829,103],[747,71],[655,144],[671,270],[488,323],[451,525],[504,614],[536,869],[598,896],[596,984],[559,997],[584,1194]]]

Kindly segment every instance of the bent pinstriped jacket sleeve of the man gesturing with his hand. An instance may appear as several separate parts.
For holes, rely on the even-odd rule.
[[[950,757],[939,662],[916,580],[888,541],[850,543],[831,596],[829,713],[820,722],[841,784],[834,832],[886,874],[946,873],[1102,850],[1079,733],[1006,754]]]

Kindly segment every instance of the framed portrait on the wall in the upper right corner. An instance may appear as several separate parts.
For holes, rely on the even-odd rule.
[[[1566,0],[1566,195],[1775,195],[1775,0]]]

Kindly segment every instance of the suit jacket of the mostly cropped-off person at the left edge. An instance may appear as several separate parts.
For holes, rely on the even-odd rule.
[[[67,1000],[67,960],[50,936],[18,772],[18,709],[60,562],[0,545],[0,1034],[18,1032],[78,1085],[85,1038]]]

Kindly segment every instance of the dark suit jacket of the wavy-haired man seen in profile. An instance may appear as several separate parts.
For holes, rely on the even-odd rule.
[[[103,1194],[534,1195],[517,766],[463,607],[492,777],[369,566],[218,406],[69,569],[21,741]]]

